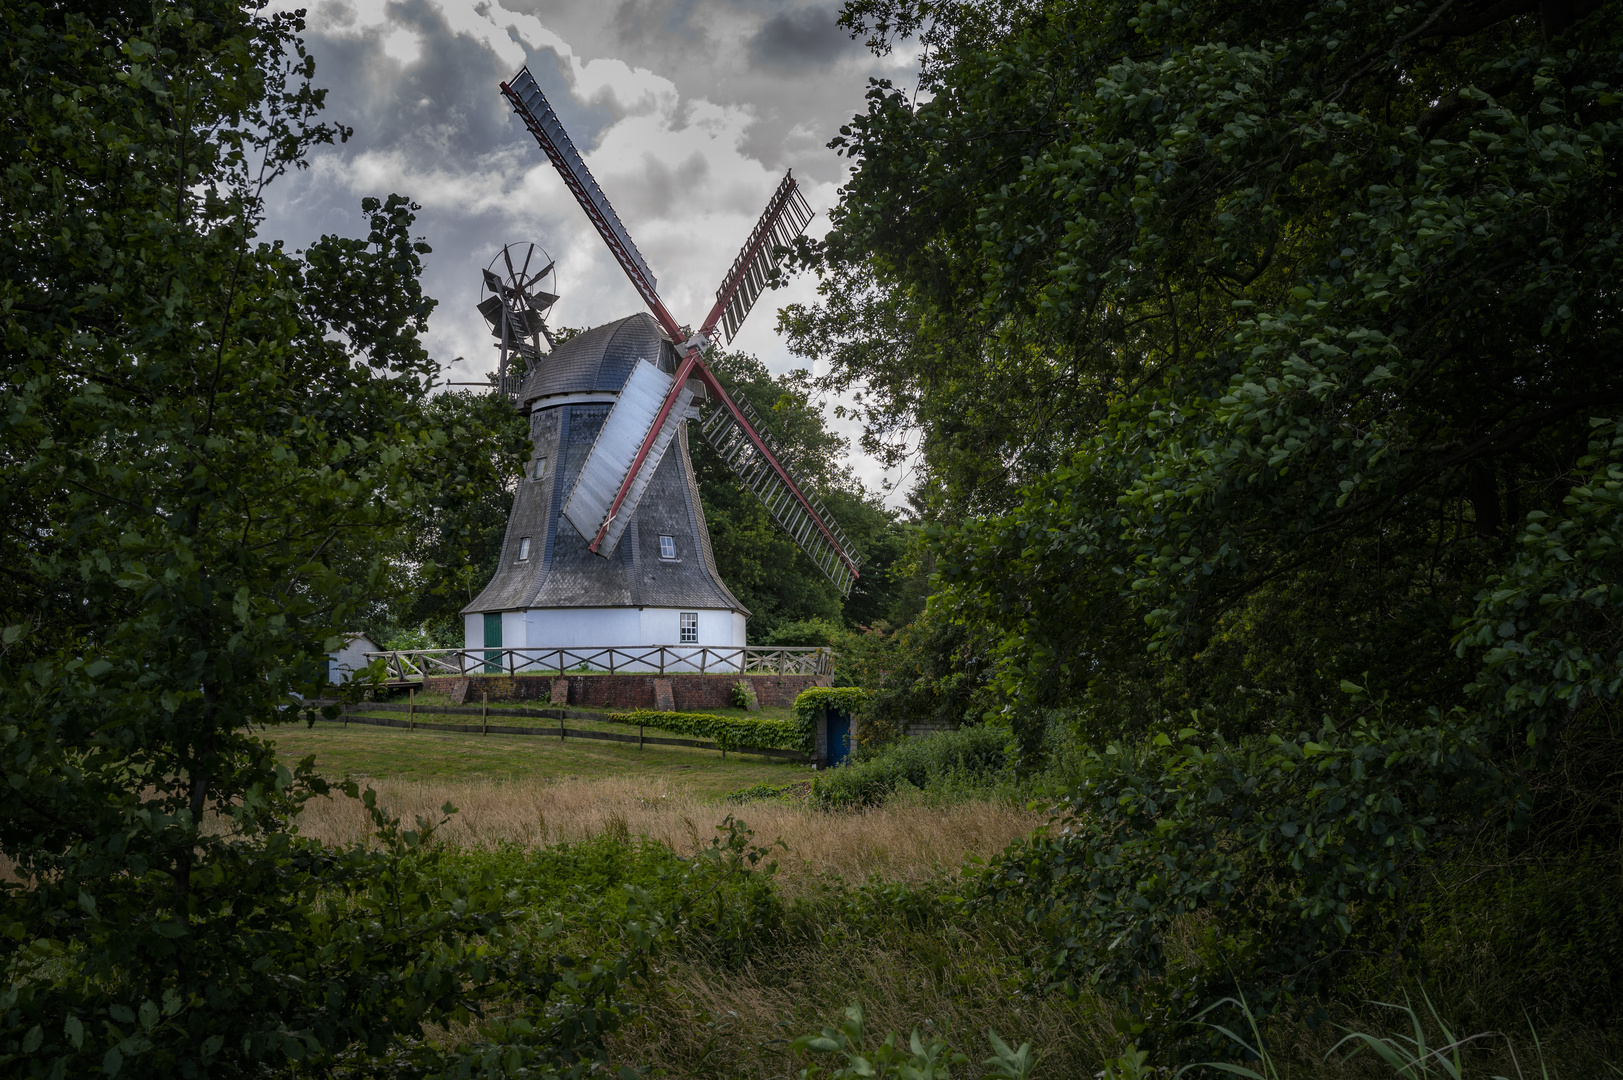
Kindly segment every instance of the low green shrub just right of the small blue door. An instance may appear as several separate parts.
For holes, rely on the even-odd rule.
[[[902,784],[943,791],[1013,780],[1008,731],[961,728],[901,739],[863,762],[821,773],[812,784],[812,797],[824,807],[873,806]]]

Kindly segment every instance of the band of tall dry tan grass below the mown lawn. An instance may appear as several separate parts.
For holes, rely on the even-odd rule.
[[[1042,815],[1001,802],[953,806],[898,802],[870,810],[821,812],[781,802],[725,806],[649,778],[516,781],[375,781],[381,806],[404,822],[458,807],[440,833],[456,846],[498,841],[550,845],[602,833],[648,836],[677,853],[693,853],[716,836],[727,814],[755,830],[756,843],[782,840],[784,877],[807,870],[860,880],[868,872],[917,882],[953,870],[969,856],[988,856],[1027,833]],[[365,810],[354,799],[318,799],[299,832],[329,843],[367,835]]]

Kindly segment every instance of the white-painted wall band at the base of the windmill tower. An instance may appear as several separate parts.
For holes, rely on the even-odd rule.
[[[683,645],[682,611],[691,607],[532,607],[502,612],[503,648],[609,648]],[[735,648],[745,643],[745,617],[735,611],[698,609],[696,645]],[[466,648],[485,648],[485,617],[464,616]]]

